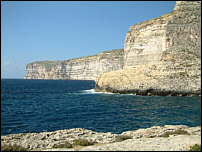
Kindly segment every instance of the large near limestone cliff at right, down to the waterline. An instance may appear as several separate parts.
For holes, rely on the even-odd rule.
[[[174,11],[130,27],[124,67],[96,79],[96,91],[139,95],[201,93],[201,2],[177,1]]]

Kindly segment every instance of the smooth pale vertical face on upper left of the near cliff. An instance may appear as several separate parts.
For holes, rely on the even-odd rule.
[[[129,28],[125,38],[124,68],[156,64],[166,50],[165,29],[173,12]]]

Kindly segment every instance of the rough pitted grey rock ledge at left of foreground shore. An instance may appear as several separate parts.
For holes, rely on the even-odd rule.
[[[85,138],[97,143],[115,141],[116,134],[99,133],[82,128],[58,130],[54,132],[22,133],[1,136],[1,144],[16,144],[27,149],[47,149],[64,142],[73,143],[74,139]]]

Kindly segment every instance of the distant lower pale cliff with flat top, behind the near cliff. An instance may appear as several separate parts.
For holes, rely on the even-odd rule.
[[[123,68],[123,49],[65,61],[37,61],[26,67],[25,79],[95,80],[103,73]]]

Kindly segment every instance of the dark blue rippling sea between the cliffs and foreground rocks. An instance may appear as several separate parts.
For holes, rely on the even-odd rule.
[[[85,128],[98,132],[201,125],[201,97],[94,92],[84,80],[1,79],[1,135]]]

